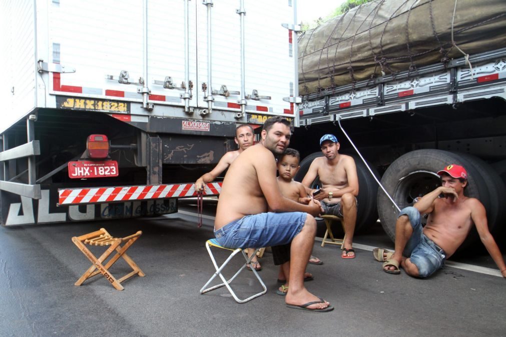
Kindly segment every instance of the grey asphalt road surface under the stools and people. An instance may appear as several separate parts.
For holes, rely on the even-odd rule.
[[[314,280],[306,285],[335,307],[331,312],[287,308],[276,295],[277,268],[269,252],[260,260],[267,294],[245,304],[225,288],[200,295],[215,271],[204,246],[213,236],[214,202],[204,204],[201,228],[193,204],[181,203],[180,213],[159,218],[0,228],[0,335],[506,334],[506,279],[483,249],[428,279],[391,275],[371,253],[376,246],[393,246],[381,225],[356,236],[352,260],[341,259],[338,246],[315,242],[313,255],[324,264],[308,266]],[[71,237],[100,227],[118,237],[143,231],[128,253],[146,276],[124,281],[123,291],[102,275],[74,285],[91,263]],[[92,251],[99,255],[103,249]],[[218,250],[216,256],[225,259],[228,253]],[[130,269],[119,260],[110,271],[119,278]],[[250,286],[252,277],[247,270],[240,274],[237,293],[260,291]]]

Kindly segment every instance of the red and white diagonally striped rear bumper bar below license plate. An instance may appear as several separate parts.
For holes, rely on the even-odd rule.
[[[221,192],[221,182],[205,184],[204,196],[217,196]],[[187,198],[197,196],[195,185],[162,184],[123,187],[61,188],[58,189],[59,205],[79,205],[134,200]]]

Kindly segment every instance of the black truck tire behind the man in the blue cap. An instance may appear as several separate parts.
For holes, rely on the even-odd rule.
[[[355,225],[355,232],[365,231],[367,227],[373,223],[375,223],[378,219],[377,208],[376,208],[376,195],[377,195],[377,182],[371,176],[371,173],[362,162],[362,160],[357,155],[349,155],[355,159],[355,164],[357,166],[357,174],[358,174],[358,184],[359,184],[359,193],[357,196],[358,209],[357,209],[357,223]],[[301,161],[301,168],[297,175],[295,176],[295,180],[302,181],[304,176],[309,170],[309,166],[313,162],[315,158],[322,157],[321,152],[313,153],[304,160]],[[369,164],[368,164],[369,165]],[[369,165],[371,167],[371,165]],[[371,167],[372,171],[379,177],[379,173]],[[315,179],[311,187],[316,187],[320,185],[320,180],[318,177]],[[320,224],[321,223],[321,224]],[[318,221],[318,228],[323,227],[323,220]],[[332,228],[332,232],[335,235],[340,235],[343,233],[343,229],[340,224],[336,224],[335,228]],[[319,232],[317,233],[317,235]],[[322,235],[318,235],[322,236]]]

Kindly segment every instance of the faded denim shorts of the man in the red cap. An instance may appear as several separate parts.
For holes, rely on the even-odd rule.
[[[399,213],[399,217],[401,215],[407,215],[413,227],[413,234],[404,248],[403,255],[409,257],[418,268],[419,277],[430,276],[444,266],[446,254],[424,234],[420,213],[416,208],[406,207]]]

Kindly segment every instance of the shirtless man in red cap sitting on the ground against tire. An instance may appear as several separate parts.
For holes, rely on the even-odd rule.
[[[427,277],[443,267],[474,223],[485,248],[506,277],[506,265],[488,231],[485,208],[478,199],[464,196],[468,185],[466,169],[452,164],[438,174],[441,186],[399,213],[395,225],[395,252],[375,248],[374,258],[383,262],[383,270],[387,273],[399,274],[400,265],[408,275]],[[438,198],[441,194],[444,198]],[[422,228],[420,214],[424,213],[429,217]]]

